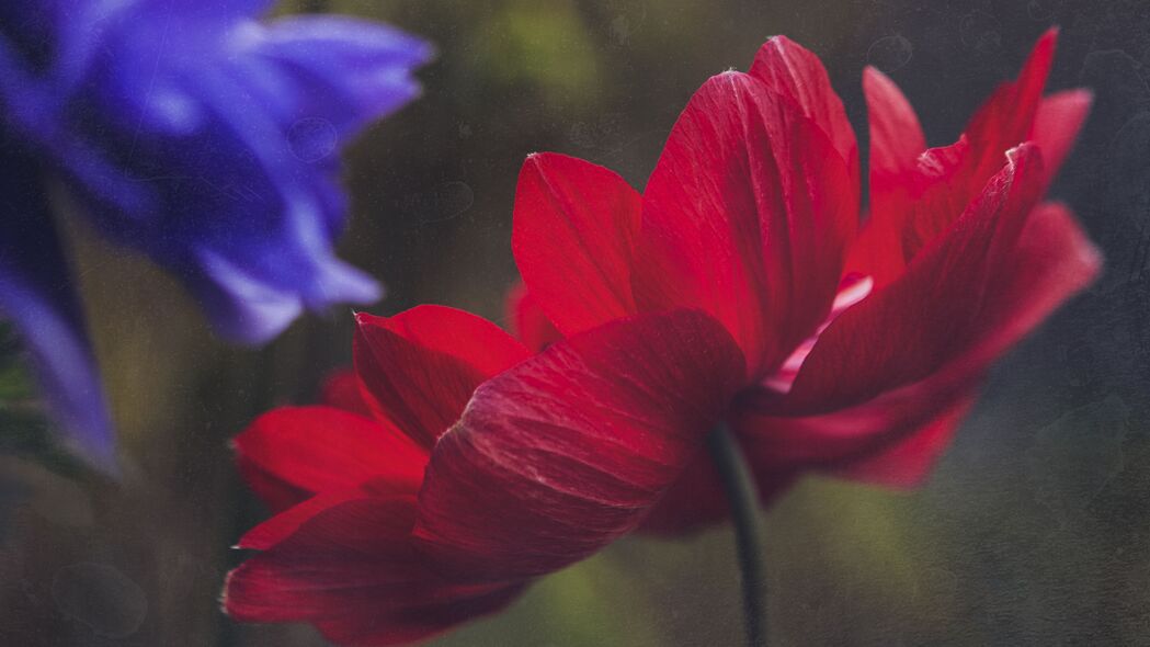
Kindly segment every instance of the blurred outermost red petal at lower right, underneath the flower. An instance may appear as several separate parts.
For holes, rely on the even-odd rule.
[[[1058,204],[1030,215],[1018,248],[1000,259],[987,294],[986,329],[965,355],[930,378],[872,401],[804,417],[747,411],[736,427],[760,479],[821,469],[888,486],[915,485],[950,442],[975,385],[1002,352],[1098,273],[1099,257]]]

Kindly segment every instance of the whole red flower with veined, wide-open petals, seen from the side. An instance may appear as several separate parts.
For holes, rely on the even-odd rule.
[[[1053,43],[944,149],[923,151],[867,70],[861,228],[854,136],[785,38],[696,93],[642,196],[531,155],[513,312],[547,348],[444,307],[360,315],[358,378],[328,389],[340,408],[274,411],[237,440],[278,515],[240,541],[261,553],[227,611],[345,645],[491,612],[641,525],[721,518],[700,452],[721,421],[764,501],[810,470],[920,479],[989,364],[1098,271],[1067,210],[1040,201],[1089,106],[1041,97]]]

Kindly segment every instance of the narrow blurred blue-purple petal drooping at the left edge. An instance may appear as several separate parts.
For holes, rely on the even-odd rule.
[[[21,332],[66,444],[115,470],[112,423],[36,161],[0,143],[0,313]]]

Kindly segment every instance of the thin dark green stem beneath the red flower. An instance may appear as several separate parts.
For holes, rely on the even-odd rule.
[[[766,647],[767,612],[766,565],[762,558],[762,533],[759,528],[759,505],[751,470],[730,429],[720,425],[707,436],[707,450],[722,480],[731,523],[735,525],[735,548],[738,570],[743,576],[743,622],[747,647]]]

